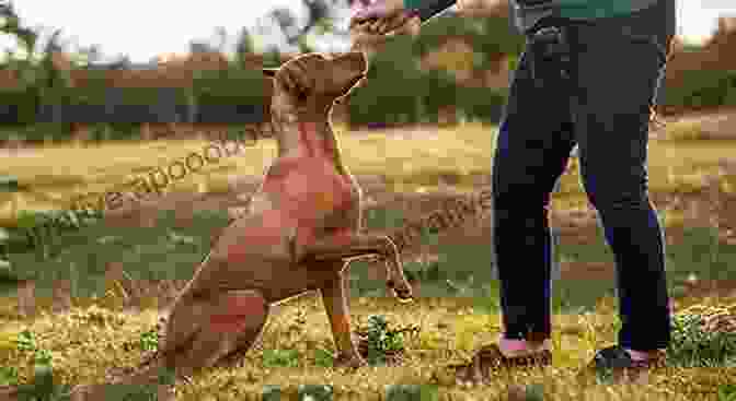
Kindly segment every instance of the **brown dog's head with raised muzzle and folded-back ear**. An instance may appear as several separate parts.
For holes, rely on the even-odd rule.
[[[296,108],[323,108],[345,98],[367,73],[363,52],[338,55],[310,52],[285,62],[280,68],[263,69],[273,80],[273,105]]]

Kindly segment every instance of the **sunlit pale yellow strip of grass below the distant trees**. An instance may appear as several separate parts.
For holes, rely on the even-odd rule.
[[[340,128],[337,129],[340,132]],[[496,129],[467,125],[460,129],[429,130],[405,139],[383,132],[340,138],[345,160],[355,175],[383,176],[396,190],[437,185],[438,178],[458,186],[472,185],[472,177],[491,173]],[[152,168],[166,168],[192,152],[202,153],[205,141],[122,142],[114,145],[74,148],[48,146],[31,154],[4,157],[0,175],[14,175],[32,190],[20,194],[21,209],[68,207],[85,193],[104,193],[128,188],[126,182],[146,176]],[[733,157],[736,141],[653,141],[649,145],[649,179],[653,192],[697,189],[720,160]],[[228,177],[260,175],[275,155],[275,142],[264,139],[233,157],[206,165],[166,190],[217,192],[227,188]],[[70,163],[79,161],[78,163]],[[561,196],[578,198],[577,165],[562,180]],[[0,194],[0,221],[10,219],[9,194]],[[4,217],[4,219],[3,219]]]

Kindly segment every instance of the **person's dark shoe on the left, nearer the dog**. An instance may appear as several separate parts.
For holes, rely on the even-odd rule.
[[[552,352],[543,350],[525,356],[506,356],[498,344],[481,347],[470,364],[451,365],[459,381],[479,382],[487,378],[492,371],[514,368],[544,367],[552,364]]]

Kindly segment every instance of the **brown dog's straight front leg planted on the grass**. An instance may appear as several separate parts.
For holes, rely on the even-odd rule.
[[[342,263],[341,263],[342,264]],[[340,266],[335,267],[338,271]],[[347,275],[344,272],[337,272],[335,280],[331,280],[320,288],[322,303],[330,319],[332,335],[337,349],[335,366],[360,367],[366,365],[366,361],[360,356],[350,332],[350,310],[349,310],[349,287],[347,287]]]

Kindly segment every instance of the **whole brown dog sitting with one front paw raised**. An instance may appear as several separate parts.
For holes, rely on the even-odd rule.
[[[412,299],[395,245],[363,235],[360,188],[345,168],[330,125],[333,103],[366,73],[361,52],[309,54],[273,79],[276,161],[253,196],[174,302],[160,346],[176,376],[240,355],[260,335],[274,303],[319,290],[337,347],[337,366],[365,364],[350,335],[346,262],[380,257],[387,284]]]

